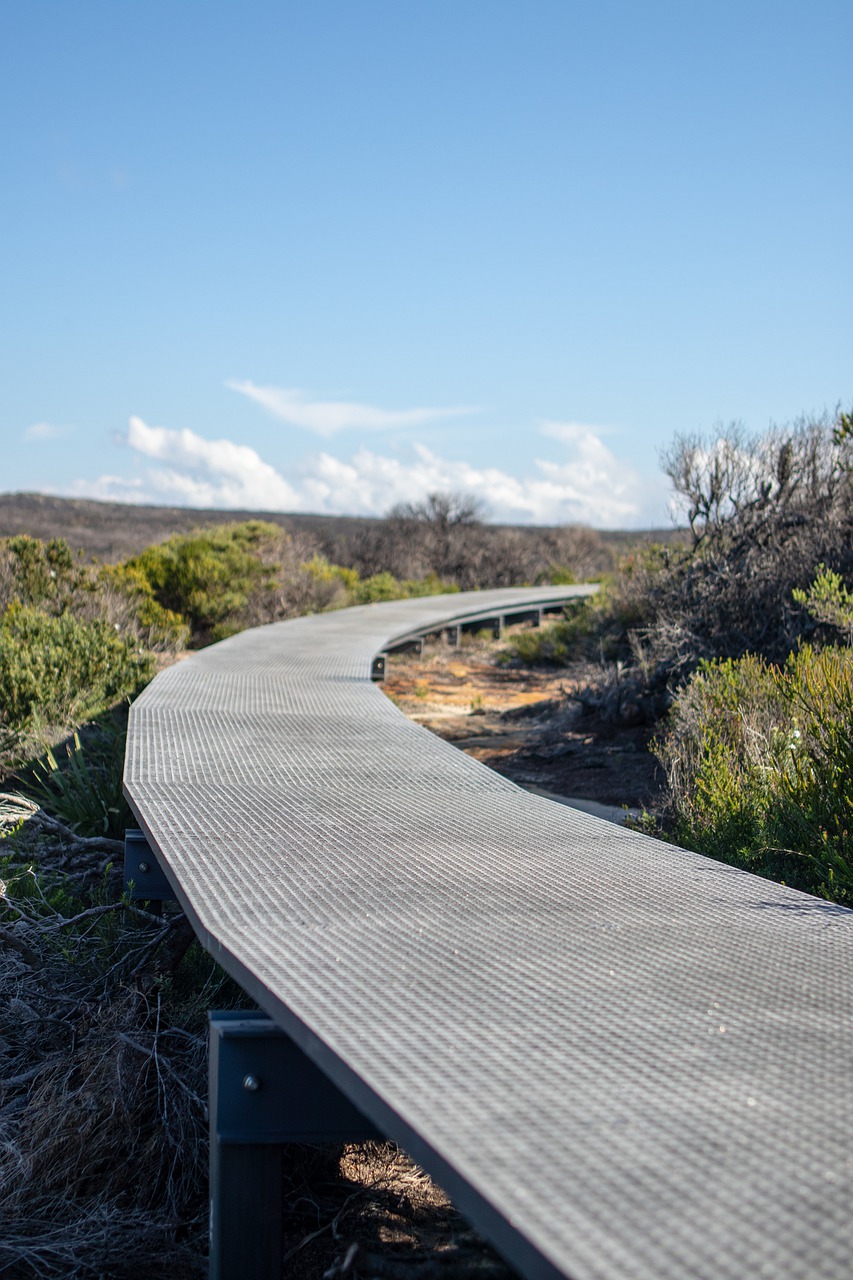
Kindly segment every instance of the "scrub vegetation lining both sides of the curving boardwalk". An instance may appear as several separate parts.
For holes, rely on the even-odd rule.
[[[187,648],[598,579],[502,660],[583,660],[580,714],[648,726],[665,838],[853,905],[853,417],[684,436],[662,462],[685,536],[619,564],[589,530],[494,530],[441,494],[334,547],[257,520],[118,564],[0,540],[0,1270],[204,1272],[205,1010],[246,997],[177,909],[123,900],[118,870],[127,705]]]

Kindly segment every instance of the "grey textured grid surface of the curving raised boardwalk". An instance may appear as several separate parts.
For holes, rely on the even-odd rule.
[[[537,594],[204,650],[132,709],[131,804],[210,950],[529,1276],[849,1280],[853,913],[528,795],[369,680]]]

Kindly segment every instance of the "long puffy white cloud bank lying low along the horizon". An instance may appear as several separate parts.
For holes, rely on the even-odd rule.
[[[616,529],[665,521],[663,477],[642,476],[622,463],[602,442],[601,429],[548,422],[542,433],[560,442],[564,458],[537,458],[521,476],[441,458],[415,444],[407,458],[371,449],[359,449],[348,458],[310,454],[286,479],[248,445],[147,426],[132,417],[127,444],[154,463],[143,479],[101,476],[88,484],[78,481],[73,492],[122,502],[356,516],[382,515],[397,502],[451,490],[474,494],[492,520],[511,524],[578,522]]]

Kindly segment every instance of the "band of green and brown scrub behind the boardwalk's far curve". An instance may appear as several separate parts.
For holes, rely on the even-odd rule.
[[[133,698],[163,662],[265,622],[610,564],[589,530],[512,536],[433,494],[336,544],[250,520],[175,534],[118,564],[61,539],[0,539],[0,768]]]

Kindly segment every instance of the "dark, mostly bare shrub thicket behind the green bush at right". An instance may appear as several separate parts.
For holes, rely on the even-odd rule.
[[[634,548],[593,603],[602,658],[624,664],[588,690],[601,714],[654,721],[701,662],[757,654],[781,664],[820,635],[826,620],[807,595],[816,572],[827,590],[853,579],[845,421],[676,438],[662,461],[690,545]]]

